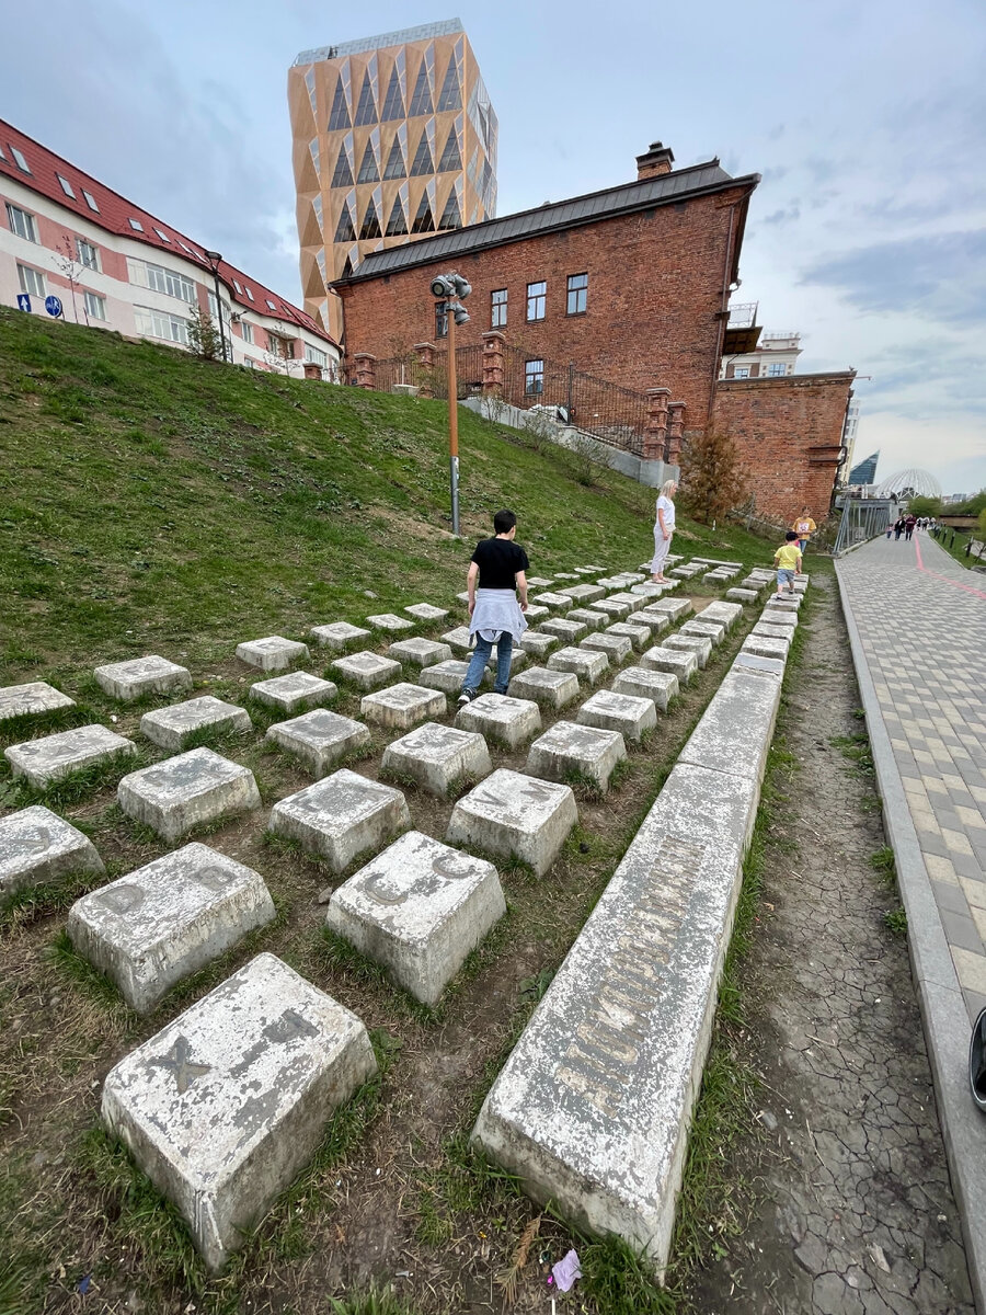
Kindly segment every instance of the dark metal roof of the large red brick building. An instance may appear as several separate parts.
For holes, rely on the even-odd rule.
[[[362,283],[364,279],[377,279],[384,274],[394,274],[415,264],[430,264],[481,251],[485,247],[517,242],[519,238],[538,237],[557,229],[573,229],[582,224],[614,218],[632,210],[646,210],[656,205],[669,205],[706,192],[719,192],[727,187],[756,187],[759,174],[731,178],[718,159],[690,168],[673,170],[655,178],[623,183],[602,192],[575,196],[553,205],[539,205],[534,210],[521,210],[518,214],[505,214],[500,220],[486,220],[484,224],[471,224],[451,233],[439,233],[433,238],[422,238],[405,246],[373,251],[346,279],[337,279],[337,287]]]

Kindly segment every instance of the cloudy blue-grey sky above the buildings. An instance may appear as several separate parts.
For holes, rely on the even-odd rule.
[[[0,114],[300,300],[287,70],[458,16],[500,117],[501,214],[685,166],[763,174],[739,300],[801,371],[856,367],[856,458],[986,485],[982,0],[45,0],[5,7]]]

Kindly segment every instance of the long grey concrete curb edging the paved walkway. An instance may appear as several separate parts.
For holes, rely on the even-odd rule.
[[[883,800],[883,825],[894,849],[897,880],[907,913],[911,969],[931,1059],[952,1190],[962,1216],[969,1279],[975,1307],[979,1315],[986,1315],[986,1118],[973,1105],[969,1091],[972,1024],[848,590],[843,584],[840,564],[835,563],[835,573]]]

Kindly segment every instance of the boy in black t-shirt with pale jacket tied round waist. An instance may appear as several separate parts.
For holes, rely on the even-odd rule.
[[[469,634],[476,650],[469,659],[460,704],[471,704],[480,692],[493,644],[497,646],[497,676],[493,689],[505,694],[510,684],[510,654],[514,639],[527,629],[527,554],[514,543],[517,517],[513,512],[497,512],[493,517],[496,531],[492,539],[482,539],[469,563],[465,588],[469,592]],[[521,601],[518,604],[518,593]]]

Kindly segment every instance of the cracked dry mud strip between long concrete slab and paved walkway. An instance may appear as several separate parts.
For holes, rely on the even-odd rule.
[[[768,848],[743,969],[761,1128],[731,1156],[756,1203],[690,1295],[703,1315],[973,1315],[907,947],[869,864],[880,810],[831,744],[862,729],[845,626],[832,577],[812,589],[774,825],[795,847]]]

